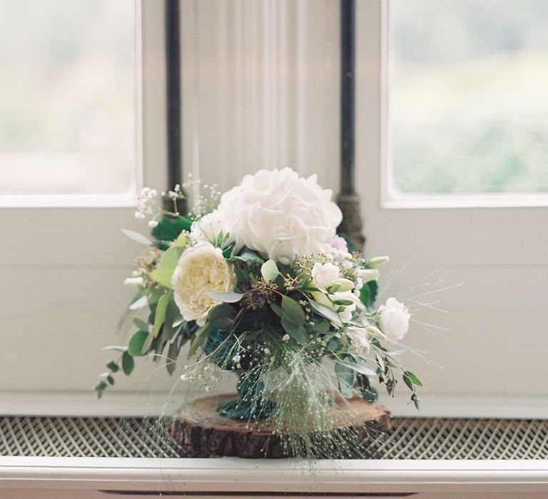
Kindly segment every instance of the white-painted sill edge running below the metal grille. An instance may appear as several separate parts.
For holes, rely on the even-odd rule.
[[[544,492],[548,461],[0,458],[0,488],[178,492]],[[0,494],[1,495],[1,494]]]

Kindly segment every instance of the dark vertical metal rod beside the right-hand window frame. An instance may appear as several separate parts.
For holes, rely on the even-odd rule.
[[[340,2],[340,193],[355,193],[355,0]]]

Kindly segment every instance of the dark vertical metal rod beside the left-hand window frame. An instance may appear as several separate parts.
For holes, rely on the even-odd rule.
[[[168,189],[181,184],[181,44],[179,0],[165,0],[166,23],[166,127],[168,149]]]

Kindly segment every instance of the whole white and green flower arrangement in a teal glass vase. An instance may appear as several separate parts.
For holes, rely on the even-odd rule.
[[[222,196],[204,188],[184,215],[183,190],[199,190],[198,181],[163,193],[173,211],[156,205],[154,190],[138,198],[136,217],[150,218],[152,239],[125,231],[146,245],[126,279],[138,289],[126,314],[137,331],[127,346],[107,347],[119,358],[108,362],[98,397],[116,371],[131,374],[138,356],[163,359],[173,374],[188,344],[195,360],[181,379],[202,380],[208,391],[215,372],[238,374],[240,398],[218,412],[275,421],[294,455],[310,455],[318,446],[310,433],[333,425],[335,392],[375,401],[372,379],[390,395],[402,379],[418,408],[421,382],[394,347],[409,329],[407,307],[391,297],[375,308],[388,258],[366,260],[336,234],[342,213],[331,191],[289,168],[246,175]]]

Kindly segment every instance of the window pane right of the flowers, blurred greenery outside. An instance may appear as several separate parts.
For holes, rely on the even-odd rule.
[[[391,5],[390,187],[548,192],[548,1]]]

